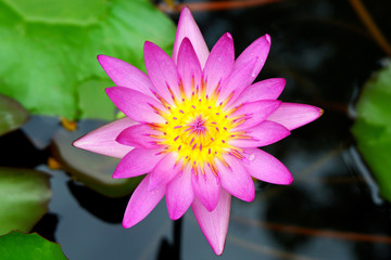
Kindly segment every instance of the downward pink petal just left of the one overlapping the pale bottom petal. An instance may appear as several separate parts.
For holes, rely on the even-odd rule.
[[[181,218],[193,202],[194,194],[191,187],[191,176],[189,169],[184,170],[167,185],[166,203],[168,216],[172,220]]]

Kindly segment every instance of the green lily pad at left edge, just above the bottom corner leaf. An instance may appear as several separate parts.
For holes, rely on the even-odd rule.
[[[29,232],[48,211],[51,196],[48,174],[0,168],[0,234],[12,230]]]

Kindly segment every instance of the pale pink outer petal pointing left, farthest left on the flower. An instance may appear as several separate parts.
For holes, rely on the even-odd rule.
[[[133,147],[123,145],[116,142],[115,139],[124,129],[136,123],[136,121],[128,117],[118,119],[87,133],[73,142],[73,145],[97,154],[122,158],[129,153]]]

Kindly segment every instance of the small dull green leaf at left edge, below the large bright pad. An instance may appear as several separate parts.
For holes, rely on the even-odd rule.
[[[22,127],[28,112],[16,101],[0,94],[0,135]]]

